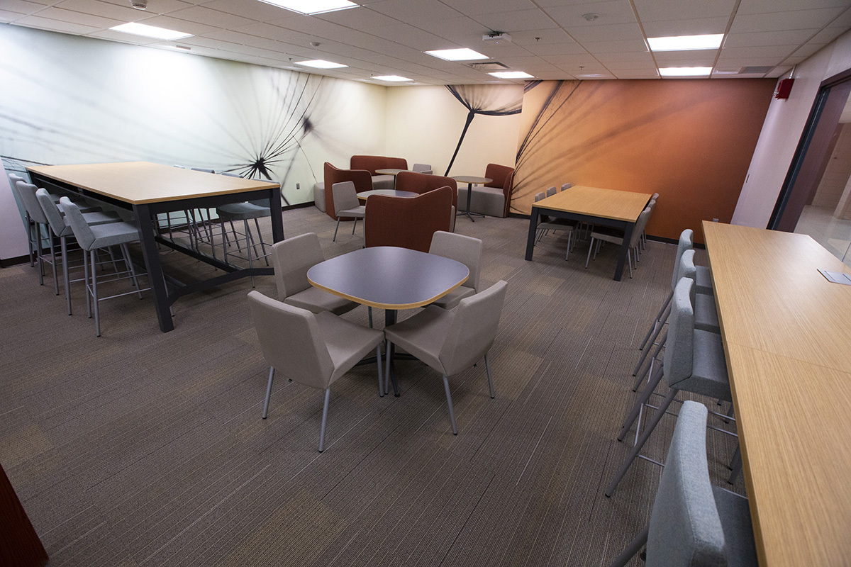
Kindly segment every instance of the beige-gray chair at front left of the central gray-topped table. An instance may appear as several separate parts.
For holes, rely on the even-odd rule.
[[[384,333],[340,319],[328,311],[313,314],[260,292],[248,293],[248,306],[254,320],[260,349],[269,363],[269,383],[263,402],[263,418],[269,411],[271,384],[275,371],[293,382],[325,390],[319,452],[325,445],[328,400],[331,385],[375,349],[378,359],[379,392],[381,377],[381,341]]]

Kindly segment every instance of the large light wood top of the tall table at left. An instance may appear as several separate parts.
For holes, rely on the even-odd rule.
[[[132,205],[273,189],[277,183],[149,162],[37,166],[27,170]]]

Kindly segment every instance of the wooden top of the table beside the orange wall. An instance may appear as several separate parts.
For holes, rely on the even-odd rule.
[[[634,223],[644,207],[647,207],[650,197],[649,193],[574,185],[568,190],[534,202],[532,206]]]

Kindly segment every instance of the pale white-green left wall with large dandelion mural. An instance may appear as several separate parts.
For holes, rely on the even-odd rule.
[[[313,201],[325,161],[384,150],[384,88],[0,26],[0,156],[147,161],[238,173]],[[296,184],[300,189],[296,189]]]

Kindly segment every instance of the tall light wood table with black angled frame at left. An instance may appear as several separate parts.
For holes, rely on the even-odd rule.
[[[226,203],[267,199],[271,214],[272,239],[283,240],[281,189],[277,183],[241,179],[169,167],[148,162],[94,163],[69,166],[27,167],[32,183],[47,190],[65,190],[104,201],[113,207],[133,211],[160,329],[174,329],[169,306],[178,298],[250,275],[271,275],[270,267],[241,269],[226,264],[191,247],[165,239],[157,232],[157,214],[197,208],[219,207]],[[179,250],[193,258],[224,270],[225,274],[203,281],[175,286],[168,292],[157,243]]]

